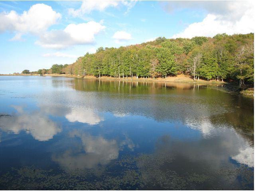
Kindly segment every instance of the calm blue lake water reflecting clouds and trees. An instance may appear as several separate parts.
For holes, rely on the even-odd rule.
[[[0,76],[0,189],[253,189],[253,99],[182,83]]]

